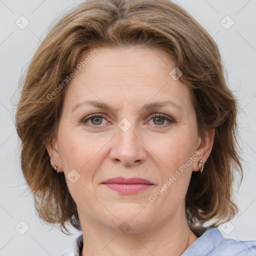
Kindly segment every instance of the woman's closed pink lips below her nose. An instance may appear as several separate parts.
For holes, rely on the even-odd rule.
[[[114,177],[102,182],[102,184],[120,193],[136,193],[151,187],[153,184],[143,178]]]

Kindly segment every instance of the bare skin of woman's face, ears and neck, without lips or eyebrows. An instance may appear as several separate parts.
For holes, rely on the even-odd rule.
[[[165,51],[138,46],[98,50],[68,84],[58,135],[47,145],[51,165],[57,163],[58,171],[64,171],[77,205],[84,242],[81,255],[180,255],[198,238],[185,218],[185,194],[192,171],[209,156],[214,130],[205,138],[197,134],[191,92],[169,75],[175,63]],[[71,111],[84,100],[104,102],[113,109],[81,104]],[[142,109],[163,100],[181,109]],[[103,113],[103,118],[82,122],[92,113]],[[154,113],[173,122],[151,117]],[[131,124],[126,131],[118,126],[123,118]],[[196,152],[200,156],[149,201]],[[72,169],[80,175],[74,183],[66,176]],[[145,178],[153,186],[121,194],[101,184],[115,176]],[[130,226],[126,233],[118,228],[123,221]]]

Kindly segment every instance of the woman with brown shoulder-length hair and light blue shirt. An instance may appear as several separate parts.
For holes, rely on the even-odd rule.
[[[65,14],[16,111],[39,217],[82,231],[62,255],[256,255],[217,228],[238,210],[236,115],[216,43],[175,3],[87,0]]]

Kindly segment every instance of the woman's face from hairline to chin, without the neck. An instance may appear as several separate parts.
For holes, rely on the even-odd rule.
[[[191,172],[206,156],[190,91],[173,75],[174,62],[142,47],[98,48],[90,56],[68,84],[53,151],[47,146],[80,222],[136,231],[183,220]],[[170,103],[160,106],[164,101]],[[114,177],[151,185],[103,183]]]

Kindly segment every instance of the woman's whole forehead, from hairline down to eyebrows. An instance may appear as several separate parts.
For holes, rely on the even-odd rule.
[[[169,74],[175,62],[167,52],[149,47],[97,49],[93,57],[88,56],[93,49],[84,54],[81,61],[88,56],[86,64],[68,84],[65,97],[70,107],[85,99],[127,104],[190,100],[187,85]]]

